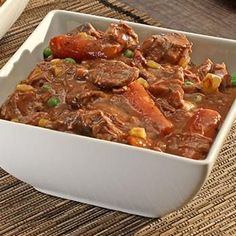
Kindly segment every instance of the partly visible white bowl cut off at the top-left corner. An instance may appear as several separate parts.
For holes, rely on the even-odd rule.
[[[11,28],[28,2],[29,0],[6,0],[6,2],[0,6],[0,39]]]

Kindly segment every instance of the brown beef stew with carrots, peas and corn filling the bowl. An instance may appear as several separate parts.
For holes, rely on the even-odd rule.
[[[191,62],[177,33],[140,43],[124,23],[52,38],[0,118],[204,159],[236,97],[224,63]]]

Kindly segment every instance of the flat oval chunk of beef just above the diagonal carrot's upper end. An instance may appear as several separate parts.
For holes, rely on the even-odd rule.
[[[128,85],[139,76],[139,70],[121,61],[101,60],[88,73],[88,80],[101,88],[115,88]]]

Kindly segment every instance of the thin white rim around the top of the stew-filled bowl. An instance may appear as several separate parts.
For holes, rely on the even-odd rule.
[[[8,4],[10,4],[11,0],[7,0],[7,2],[8,1],[9,1]],[[4,4],[6,4],[7,2],[5,2]],[[0,8],[0,10],[1,10],[1,8]],[[0,79],[2,79],[1,74],[3,72],[5,72],[7,70],[8,70],[8,72],[10,72],[11,70],[14,70],[13,64],[17,63],[18,55],[21,54],[25,50],[24,47],[27,47],[28,42],[31,40],[31,38],[33,38],[34,35],[42,27],[44,27],[45,25],[46,25],[46,27],[49,27],[51,24],[53,24],[52,23],[53,22],[52,18],[54,18],[58,14],[59,15],[60,14],[66,14],[68,16],[71,16],[71,15],[72,16],[81,16],[81,17],[84,16],[86,18],[89,17],[89,18],[98,19],[98,20],[102,20],[102,21],[107,21],[107,20],[114,21],[114,22],[120,21],[119,19],[110,18],[110,17],[96,16],[96,15],[91,15],[91,14],[71,12],[71,11],[65,11],[65,10],[52,10],[43,18],[43,20],[40,22],[40,24],[30,34],[30,36],[25,40],[25,42],[21,45],[21,47],[14,53],[14,55],[2,67],[2,69],[0,70]],[[156,30],[162,30],[162,31],[166,31],[166,32],[179,32],[179,33],[186,34],[187,37],[189,35],[191,35],[191,36],[194,36],[194,37],[197,37],[197,38],[203,38],[203,39],[206,39],[206,40],[207,39],[220,40],[220,41],[225,41],[227,43],[233,43],[233,44],[236,45],[236,40],[233,40],[233,39],[220,38],[220,37],[203,35],[203,34],[196,34],[196,33],[191,33],[191,32],[186,32],[186,31],[181,31],[181,30],[173,30],[173,29],[169,29],[169,28],[162,28],[162,27],[158,27],[158,26],[144,25],[144,24],[141,24],[141,23],[130,22],[130,21],[125,21],[125,20],[122,20],[122,21],[130,24],[131,26],[137,25],[137,26],[148,28],[148,29],[154,29],[155,28]],[[79,24],[79,22],[78,22],[78,24]],[[9,125],[27,126],[27,127],[30,127],[31,129],[40,129],[41,132],[48,132],[48,135],[50,135],[51,132],[57,132],[57,135],[64,135],[65,138],[67,137],[67,135],[70,135],[70,136],[74,135],[76,138],[88,140],[89,142],[99,142],[101,144],[105,142],[105,143],[109,143],[110,145],[118,145],[121,148],[138,149],[138,150],[141,150],[144,153],[149,152],[149,153],[154,154],[154,153],[158,152],[158,153],[161,153],[164,158],[174,159],[174,160],[178,159],[179,161],[192,163],[194,165],[209,165],[209,164],[213,164],[216,161],[216,158],[218,157],[218,153],[219,153],[220,149],[222,148],[224,140],[225,140],[226,136],[228,135],[229,130],[232,127],[233,122],[234,122],[235,119],[236,119],[236,99],[235,99],[234,103],[232,104],[230,110],[228,111],[226,119],[224,120],[222,126],[220,127],[215,139],[213,140],[213,143],[211,144],[211,147],[209,149],[209,152],[208,152],[206,158],[203,159],[203,160],[195,160],[195,159],[190,159],[190,158],[187,158],[187,157],[178,156],[178,155],[174,155],[174,154],[169,154],[169,153],[165,153],[165,152],[158,152],[158,151],[151,150],[151,149],[134,147],[134,146],[123,144],[123,143],[117,143],[117,142],[112,142],[112,141],[107,141],[107,140],[101,140],[101,139],[86,137],[86,136],[82,136],[82,135],[78,135],[78,134],[69,134],[69,133],[66,133],[66,132],[45,129],[45,128],[41,128],[41,127],[37,127],[37,126],[31,126],[31,125],[22,124],[22,123],[14,123],[12,121],[7,121],[7,120],[3,120],[3,119],[0,119],[0,123],[9,124]]]

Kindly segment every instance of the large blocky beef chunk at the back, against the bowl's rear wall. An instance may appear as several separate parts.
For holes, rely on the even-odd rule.
[[[170,33],[147,38],[141,45],[141,51],[144,57],[156,62],[181,65],[184,60],[189,60],[191,47],[192,44],[184,35]]]

